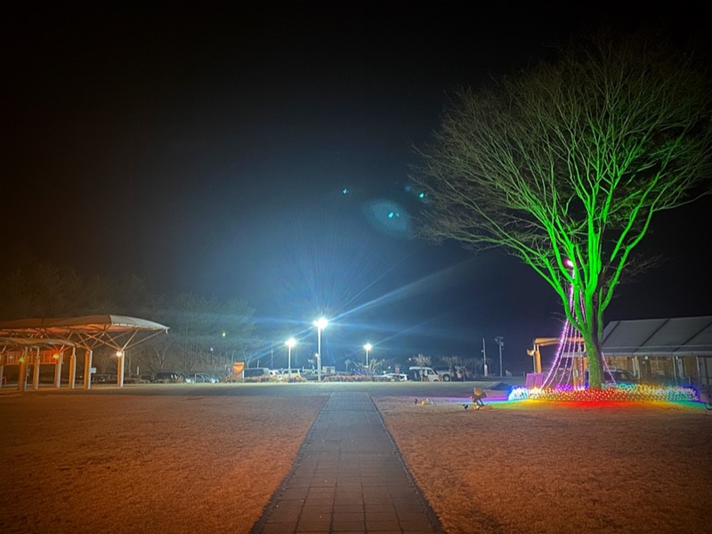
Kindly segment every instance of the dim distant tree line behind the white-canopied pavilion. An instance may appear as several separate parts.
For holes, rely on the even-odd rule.
[[[234,360],[249,360],[259,344],[255,309],[244,300],[156,294],[134,275],[86,278],[72,267],[46,262],[16,267],[0,283],[2,320],[100,314],[137,317],[170,328],[167,336],[156,336],[131,351],[131,372],[220,371]],[[103,360],[101,354],[97,357]]]

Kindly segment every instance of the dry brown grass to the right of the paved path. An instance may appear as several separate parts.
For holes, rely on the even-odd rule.
[[[699,405],[434,401],[376,404],[451,534],[712,532]]]

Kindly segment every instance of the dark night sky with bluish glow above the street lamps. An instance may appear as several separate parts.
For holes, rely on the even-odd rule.
[[[457,88],[584,28],[712,33],[709,12],[680,3],[625,16],[601,3],[99,4],[4,13],[4,263],[27,247],[155,291],[245,298],[280,350],[301,333],[313,352],[323,312],[337,318],[325,364],[366,341],[374,357],[470,356],[485,338],[495,356],[504,336],[506,367],[529,369],[559,303],[501,253],[407,237],[412,146]],[[659,217],[644,247],[667,262],[620,287],[607,320],[712,312],[710,207]]]

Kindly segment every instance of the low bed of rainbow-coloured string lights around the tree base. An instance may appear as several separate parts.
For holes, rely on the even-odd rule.
[[[578,389],[570,385],[554,388],[516,387],[508,401],[566,401],[566,402],[700,402],[700,392],[693,387],[650,384],[617,384],[600,390]]]

